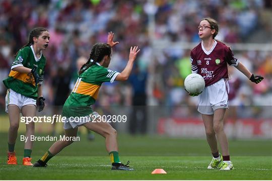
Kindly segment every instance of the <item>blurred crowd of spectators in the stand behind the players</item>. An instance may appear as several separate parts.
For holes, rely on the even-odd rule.
[[[171,48],[171,44],[196,45],[200,41],[197,26],[203,17],[219,22],[216,38],[226,43],[247,43],[248,39],[254,41],[255,34],[271,34],[270,0],[2,0],[0,4],[1,81],[8,76],[14,55],[27,43],[31,29],[45,27],[50,33],[49,46],[43,52],[47,59],[43,83],[47,105],[54,105],[56,92],[62,96],[69,94],[67,88],[73,88],[77,77],[77,60],[88,59],[92,46],[107,42],[108,32],[112,31],[114,40],[120,43],[113,48],[110,69],[122,71],[130,46],[139,46],[141,53],[130,79],[105,83],[97,104],[164,105],[173,116],[185,112],[194,114],[186,110],[185,105],[197,105],[197,98],[188,97],[183,88],[184,78],[190,73],[190,50]],[[156,41],[162,40],[167,48],[154,49]],[[271,43],[270,38],[263,40],[261,43]],[[255,85],[236,70],[230,70],[230,81],[239,81],[239,86],[233,86],[231,104],[241,108],[271,106],[271,51],[234,51],[234,54],[264,80]],[[53,81],[55,77],[63,78]],[[0,105],[4,106],[3,83],[0,93]],[[184,109],[172,109],[180,105]],[[259,116],[260,113],[262,111],[246,111],[245,115]]]

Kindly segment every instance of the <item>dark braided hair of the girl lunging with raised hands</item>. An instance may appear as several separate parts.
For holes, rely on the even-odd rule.
[[[90,66],[94,65],[96,62],[101,62],[105,55],[110,56],[111,46],[107,43],[96,43],[90,53],[89,60],[82,65],[79,75],[87,70]],[[90,63],[91,62],[91,63]]]

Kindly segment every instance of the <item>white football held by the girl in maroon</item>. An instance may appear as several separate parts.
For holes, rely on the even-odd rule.
[[[184,87],[191,94],[201,93],[205,88],[205,80],[201,75],[191,73],[186,76],[184,80]]]

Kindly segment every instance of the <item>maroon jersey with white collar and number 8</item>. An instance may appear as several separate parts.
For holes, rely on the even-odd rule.
[[[222,42],[215,41],[211,50],[205,50],[202,42],[191,51],[192,73],[200,74],[205,85],[209,86],[221,78],[228,78],[227,63],[237,66],[239,60],[233,55],[231,49]]]

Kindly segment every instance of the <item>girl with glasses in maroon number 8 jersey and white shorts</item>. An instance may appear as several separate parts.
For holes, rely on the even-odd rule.
[[[211,148],[213,159],[209,169],[220,168],[230,170],[233,164],[230,161],[228,139],[223,129],[223,120],[226,109],[229,107],[229,84],[227,64],[235,66],[252,82],[259,83],[263,77],[252,74],[233,55],[231,49],[220,41],[216,41],[218,23],[212,18],[204,18],[198,26],[198,35],[202,40],[191,51],[192,73],[198,73],[205,79],[205,89],[198,96],[198,112],[202,115],[206,137]],[[219,153],[217,139],[222,149]]]

